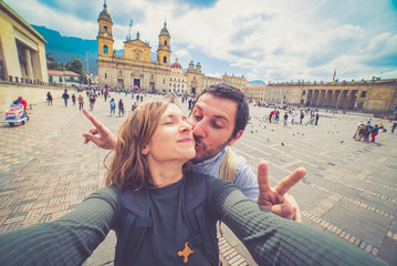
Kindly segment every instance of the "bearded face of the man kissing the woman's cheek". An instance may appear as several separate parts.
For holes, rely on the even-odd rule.
[[[209,93],[202,94],[190,116],[196,139],[195,163],[213,157],[226,145],[232,145],[242,134],[232,137],[238,104],[229,99],[221,99]]]

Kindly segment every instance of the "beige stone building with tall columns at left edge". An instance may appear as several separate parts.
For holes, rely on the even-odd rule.
[[[0,80],[48,82],[44,38],[0,0]]]

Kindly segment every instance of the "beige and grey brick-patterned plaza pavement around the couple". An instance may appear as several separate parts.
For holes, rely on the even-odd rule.
[[[85,99],[85,106],[87,99]],[[130,95],[115,94],[130,110]],[[152,96],[144,98],[145,101]],[[181,104],[187,112],[187,105]],[[397,265],[397,132],[376,143],[353,140],[364,114],[330,114],[321,111],[318,125],[268,124],[270,109],[251,106],[251,123],[234,151],[257,171],[269,162],[271,185],[303,166],[307,175],[295,185],[294,195],[303,223]],[[0,125],[0,234],[53,221],[75,208],[84,197],[103,186],[103,158],[107,151],[83,144],[91,124],[79,104],[33,105],[25,125]],[[98,98],[92,112],[116,132],[124,117],[109,116],[108,101]],[[306,122],[307,115],[304,120]],[[220,252],[228,265],[257,265],[236,236],[222,225]],[[115,236],[111,233],[85,265],[112,265]]]

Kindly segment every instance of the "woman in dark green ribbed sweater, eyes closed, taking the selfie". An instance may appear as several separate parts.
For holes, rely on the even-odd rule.
[[[107,186],[52,223],[0,235],[0,265],[81,265],[111,228],[123,242],[119,228],[128,219],[124,202],[128,190],[147,193],[150,227],[136,248],[117,243],[116,265],[218,265],[205,246],[187,248],[192,234],[184,216],[182,195],[185,184],[197,175],[184,166],[196,151],[192,129],[180,109],[165,102],[143,103],[123,123],[117,137]],[[382,265],[355,246],[259,207],[232,183],[200,177],[206,181],[208,231],[213,232],[221,219],[259,265]],[[121,249],[136,256],[129,263],[117,262]]]

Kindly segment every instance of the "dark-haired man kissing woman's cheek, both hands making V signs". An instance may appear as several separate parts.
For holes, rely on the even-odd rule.
[[[83,134],[85,143],[92,141],[103,149],[113,149],[116,136],[88,112],[83,111],[95,129]],[[189,115],[196,140],[194,171],[220,176],[221,164],[229,146],[238,141],[248,123],[249,108],[244,94],[229,84],[213,84],[206,89],[195,102]],[[100,136],[95,136],[98,134]],[[284,218],[301,221],[301,213],[294,198],[286,192],[305,175],[299,168],[282,180],[274,190],[269,186],[268,165],[260,163],[258,177],[242,156],[238,156],[233,183],[242,193],[257,201],[264,208]]]

